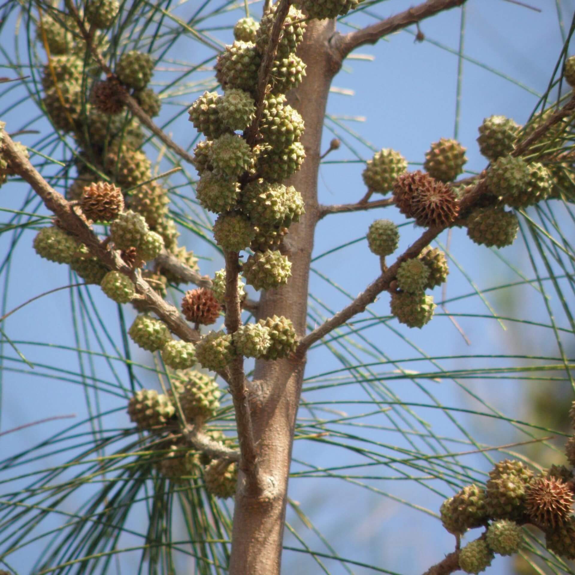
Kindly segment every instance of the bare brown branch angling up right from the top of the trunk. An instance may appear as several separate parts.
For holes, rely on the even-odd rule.
[[[331,40],[332,48],[339,56],[340,61],[346,59],[347,55],[355,48],[364,44],[375,44],[380,38],[387,36],[397,30],[401,30],[412,24],[417,24],[425,18],[435,16],[443,10],[448,10],[455,6],[461,6],[466,0],[427,0],[415,8],[409,8],[382,20],[367,28],[356,30],[348,34],[336,34]]]

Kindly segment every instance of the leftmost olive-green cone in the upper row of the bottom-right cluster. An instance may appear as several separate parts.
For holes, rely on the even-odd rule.
[[[488,519],[485,509],[485,489],[475,484],[466,485],[443,502],[440,515],[443,527],[455,535],[480,527]]]

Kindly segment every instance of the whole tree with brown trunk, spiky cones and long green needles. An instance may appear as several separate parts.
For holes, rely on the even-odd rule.
[[[76,274],[66,286],[76,323],[71,323],[70,333],[78,334],[69,351],[78,354],[79,368],[74,373],[76,379],[72,379],[81,382],[85,389],[88,411],[83,423],[90,429],[85,437],[78,431],[81,424],[74,423],[37,446],[6,458],[3,469],[13,473],[18,466],[29,465],[36,458],[66,457],[64,451],[59,451],[60,443],[71,442],[72,453],[66,461],[33,471],[29,482],[10,489],[3,497],[6,553],[29,548],[37,538],[44,540],[45,547],[34,557],[34,573],[64,572],[67,568],[103,573],[120,569],[113,558],[129,557],[134,550],[141,550],[140,570],[145,560],[152,573],[175,572],[178,559],[174,555],[179,554],[194,557],[198,573],[226,569],[233,574],[278,573],[287,504],[307,521],[298,504],[287,497],[297,433],[326,448],[338,446],[363,458],[361,465],[355,462],[344,466],[342,478],[346,481],[369,485],[365,482],[370,465],[385,463],[422,489],[440,493],[442,497],[432,509],[436,516],[441,500],[446,499],[441,519],[455,535],[455,550],[443,560],[444,553],[430,557],[428,564],[435,563],[430,573],[450,573],[459,566],[476,572],[491,561],[493,550],[500,554],[517,551],[523,537],[520,526],[533,523],[542,529],[525,532],[529,534],[523,543],[526,551],[539,551],[547,564],[568,570],[565,559],[573,558],[570,469],[543,473],[536,462],[525,466],[507,459],[494,466],[494,461],[487,459],[489,451],[508,451],[511,441],[498,442],[494,447],[476,440],[427,384],[440,377],[461,385],[465,378],[488,381],[493,374],[501,378],[506,373],[518,381],[530,377],[526,374],[536,374],[550,385],[554,376],[549,374],[561,373],[562,379],[573,383],[572,361],[563,347],[563,339],[572,335],[574,327],[568,297],[573,286],[573,249],[568,227],[572,225],[570,122],[575,100],[565,88],[566,82],[573,83],[574,63],[567,59],[573,28],[565,34],[557,64],[550,70],[549,87],[526,126],[520,128],[512,120],[500,117],[491,117],[482,124],[481,151],[491,162],[488,166],[484,160],[486,171],[461,179],[465,150],[451,139],[432,144],[424,172],[407,171],[403,156],[385,147],[365,166],[363,180],[367,189],[355,201],[321,205],[317,196],[320,161],[342,143],[334,139],[328,152],[322,154],[327,148],[321,143],[325,108],[333,77],[346,57],[355,49],[408,26],[415,25],[415,39],[424,40],[420,22],[459,9],[466,5],[465,1],[428,0],[348,33],[338,31],[335,17],[351,8],[354,10],[350,16],[354,16],[354,11],[358,17],[369,16],[377,2],[297,2],[308,17],[298,13],[296,6],[290,7],[286,0],[274,6],[268,2],[259,32],[255,21],[241,20],[234,30],[236,44],[225,49],[214,40],[213,30],[206,28],[204,22],[212,16],[217,28],[218,18],[236,6],[211,4],[202,5],[191,16],[169,3],[165,7],[144,2],[118,6],[113,0],[102,0],[74,5],[67,0],[65,6],[47,3],[33,9],[32,5],[22,5],[30,39],[31,77],[8,84],[6,93],[11,86],[28,90],[38,99],[42,115],[50,118],[54,131],[47,139],[41,134],[37,144],[30,145],[26,152],[12,136],[26,131],[30,124],[13,127],[18,119],[10,117],[10,110],[3,114],[6,127],[2,131],[2,169],[7,176],[16,177],[16,183],[9,184],[15,189],[18,179],[18,189],[32,188],[5,224],[4,233],[11,237],[5,269],[13,262],[17,240],[24,233],[28,237],[30,229],[41,227],[34,239],[38,254],[68,264]],[[5,7],[3,33],[10,33],[8,23],[14,21],[19,8],[16,3]],[[460,66],[465,29],[465,9],[462,10]],[[317,18],[325,16],[331,18]],[[34,34],[40,39],[45,57],[33,48]],[[159,101],[158,95],[147,87],[160,62],[181,64],[176,48],[179,41],[189,42],[191,38],[209,49],[210,56],[169,80],[164,93],[185,93],[189,89],[186,76],[196,72],[196,86],[213,89],[216,82],[212,78],[202,79],[203,67],[208,64],[215,64],[217,82],[225,89],[224,96],[221,91],[216,94],[206,90],[191,105],[190,121],[205,136],[191,142],[195,145],[193,152],[183,147],[192,140],[189,136],[177,144],[168,133],[171,121],[183,121],[180,113],[162,128],[151,119],[158,113]],[[246,43],[250,40],[255,40],[255,44]],[[198,53],[202,55],[201,51]],[[220,54],[217,62],[215,53]],[[37,81],[41,62],[44,91]],[[16,52],[11,56],[11,71],[20,71],[22,66]],[[166,71],[158,69],[156,74],[163,80]],[[15,79],[18,80],[7,80]],[[152,174],[149,158],[154,154],[159,170],[170,169]],[[196,171],[200,175],[198,182]],[[174,182],[169,185],[169,208],[168,184],[159,183],[168,176]],[[68,179],[72,177],[75,180],[70,183]],[[359,185],[359,179],[357,182]],[[57,188],[65,190],[68,199]],[[373,194],[384,197],[373,200]],[[43,204],[40,213],[44,216],[38,215],[37,198]],[[391,211],[393,206],[402,216],[397,210]],[[378,219],[370,227],[367,239],[380,263],[366,275],[373,278],[381,264],[377,279],[347,305],[338,304],[335,313],[321,299],[316,301],[317,307],[308,307],[310,264],[319,223],[379,208],[388,208],[396,222],[407,221],[404,216],[415,221],[413,232],[401,228],[401,235],[409,237],[409,246],[398,250],[396,223]],[[208,212],[217,214],[213,236],[212,216]],[[44,226],[52,214],[57,221]],[[215,237],[225,273],[213,278],[201,275],[194,254],[178,244],[174,223],[202,237],[206,245],[208,241],[214,245]],[[514,356],[490,350],[483,366],[461,369],[444,368],[439,360],[447,354],[438,351],[431,357],[421,355],[430,362],[428,371],[416,367],[414,372],[398,361],[401,356],[385,358],[385,351],[365,338],[367,326],[374,324],[387,330],[395,321],[393,318],[407,328],[426,325],[425,329],[437,335],[443,332],[433,327],[439,318],[430,323],[435,304],[424,294],[424,288],[431,289],[444,281],[447,263],[442,251],[430,251],[428,246],[443,232],[448,235],[448,230],[457,232],[458,227],[465,228],[476,243],[496,248],[511,244],[520,232],[534,278],[517,273],[522,285],[539,290],[548,317],[546,322],[536,315],[537,319],[519,317],[516,321],[522,327],[537,323],[553,333],[557,356],[532,357],[527,351]],[[332,245],[337,243],[333,237]],[[248,246],[253,253],[240,258],[239,252]],[[204,255],[201,250],[198,254]],[[457,267],[456,261],[453,259],[452,263]],[[545,274],[539,271],[542,264]],[[509,267],[516,269],[511,263]],[[252,292],[244,300],[240,272],[248,285],[260,291],[257,300],[251,297]],[[171,286],[169,296],[166,282]],[[99,310],[105,304],[94,300],[99,292],[97,286],[85,285],[91,283],[100,283],[102,291],[118,303],[117,333],[102,319]],[[185,283],[198,287],[185,292],[183,300],[181,295],[174,298],[178,293],[174,290]],[[481,289],[471,285],[487,301]],[[548,300],[548,285],[553,286],[559,298],[556,308]],[[40,294],[37,286],[34,290]],[[345,287],[341,291],[347,296]],[[377,312],[369,308],[386,292],[391,300],[391,315],[382,315],[379,306]],[[129,329],[128,303],[140,312]],[[489,309],[494,318],[503,321]],[[200,329],[200,325],[219,321],[222,310],[225,331],[208,333]],[[327,318],[323,317],[326,313]],[[557,313],[568,327],[555,320]],[[453,311],[444,309],[444,315],[443,327],[449,325],[447,321],[454,321],[459,327]],[[462,310],[459,320],[463,321],[464,316]],[[390,333],[401,333],[407,338],[402,327],[401,331],[391,329]],[[5,344],[13,346],[18,361],[28,363],[29,354],[20,350],[27,343],[9,338],[6,329],[3,333]],[[164,393],[140,389],[144,372],[133,359],[135,348],[128,342],[128,333],[138,346],[155,354],[153,371]],[[346,342],[343,352],[338,347],[342,342]],[[405,342],[419,355],[416,343],[409,339]],[[48,337],[47,343],[55,342]],[[304,401],[302,407],[309,417],[297,421],[306,360],[320,343],[343,367],[338,370],[332,363],[327,369],[324,367],[308,392],[313,394],[324,388],[337,394],[341,386],[354,383],[373,413],[347,416],[331,412],[326,419],[325,414],[330,412],[320,410],[329,409],[330,402],[321,398],[317,402]],[[362,348],[364,343],[370,347]],[[474,350],[474,354],[470,357],[480,359],[479,352]],[[370,355],[375,361],[368,359]],[[246,371],[252,359],[246,358],[255,359],[252,373]],[[490,365],[500,359],[501,366]],[[34,359],[31,361],[45,368]],[[118,375],[116,361],[125,366],[125,375]],[[396,373],[378,371],[389,365]],[[55,373],[60,380],[71,377],[62,365],[59,367]],[[198,371],[200,367],[217,373],[221,388],[229,389],[221,402],[214,379]],[[112,385],[102,377],[103,369],[108,370]],[[343,379],[338,379],[339,375]],[[129,384],[122,381],[124,377]],[[388,386],[393,381],[413,382],[427,401],[401,398]],[[471,393],[471,389],[468,391]],[[111,409],[124,418],[119,430],[104,423],[108,407],[99,401],[105,392],[116,397]],[[546,428],[541,430],[515,415],[505,416],[482,400],[481,394],[475,397],[483,416],[512,424],[527,434],[528,441],[549,440]],[[340,401],[339,397],[335,400]],[[343,400],[358,406],[362,401]],[[127,408],[132,421],[129,425]],[[451,438],[440,436],[416,408],[437,409],[457,431]],[[388,409],[390,414],[385,415]],[[568,410],[566,406],[565,411]],[[369,425],[370,417],[375,415],[389,417],[391,428],[402,435],[405,443],[394,446],[393,457],[385,454],[388,446],[365,432],[369,427],[362,430],[361,421]],[[573,413],[571,417],[573,420]],[[346,423],[358,425],[338,431],[338,425]],[[379,430],[383,427],[381,420],[374,425]],[[566,435],[562,434],[555,448],[563,450]],[[447,446],[450,440],[462,439],[469,443],[462,451],[486,455],[485,460],[480,459],[483,466],[470,468],[457,451]],[[569,440],[567,454],[573,466],[573,439]],[[490,463],[487,469],[485,461]],[[352,465],[359,465],[365,471],[363,476],[356,477]],[[406,465],[409,473],[402,469]],[[308,469],[313,470],[313,463]],[[534,470],[538,477],[534,478]],[[338,464],[317,471],[333,476],[339,471]],[[486,471],[491,474],[485,493],[480,484],[485,482]],[[425,485],[430,480],[440,488]],[[20,477],[7,481],[17,485]],[[538,490],[531,485],[535,481]],[[551,490],[555,499],[551,498],[549,513],[538,515],[537,497],[545,489]],[[228,508],[214,495],[225,497],[234,490],[232,523]],[[447,499],[450,495],[453,497]],[[79,511],[68,508],[72,497],[86,502]],[[504,501],[498,507],[498,497],[512,501]],[[145,528],[138,524],[139,513],[147,515]],[[70,520],[60,523],[53,518],[55,515]],[[177,529],[178,517],[182,517],[181,530]],[[47,532],[38,529],[50,521],[55,523]],[[468,528],[488,524],[486,534],[478,534],[461,549],[461,535]],[[142,536],[144,542],[139,539],[133,545],[126,544]],[[301,541],[297,534],[296,537]],[[501,540],[511,543],[503,549]],[[558,553],[557,557],[546,551],[543,554],[545,542]],[[451,549],[446,548],[445,552]],[[322,568],[321,553],[309,548],[308,552],[317,562],[317,569]],[[350,559],[340,557],[335,550],[324,555],[338,559],[342,565],[352,565]],[[6,564],[12,569],[8,557]],[[367,564],[359,561],[359,565]],[[374,568],[386,572],[385,565]]]

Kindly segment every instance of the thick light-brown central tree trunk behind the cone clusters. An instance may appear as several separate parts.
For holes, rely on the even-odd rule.
[[[286,286],[263,292],[258,317],[285,316],[293,321],[298,336],[305,333],[309,266],[317,223],[317,171],[321,132],[329,85],[334,69],[329,38],[333,20],[312,20],[297,54],[307,65],[306,77],[288,95],[290,104],[305,121],[302,143],[306,158],[290,185],[302,194],[305,216],[290,227],[282,251],[292,262],[292,278]],[[233,516],[230,575],[275,575],[281,564],[287,501],[287,479],[292,458],[296,415],[304,376],[305,358],[256,362],[254,380],[262,386],[251,404],[254,438],[259,452],[258,473],[263,491],[242,488],[240,471]]]

